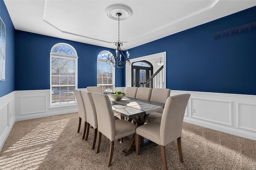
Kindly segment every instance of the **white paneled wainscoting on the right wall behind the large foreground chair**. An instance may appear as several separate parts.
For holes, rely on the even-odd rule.
[[[256,96],[171,90],[191,94],[184,121],[256,140]]]

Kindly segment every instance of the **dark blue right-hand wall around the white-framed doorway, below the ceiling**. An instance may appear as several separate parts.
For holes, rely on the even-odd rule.
[[[133,58],[166,51],[171,90],[256,95],[256,30],[214,40],[214,32],[256,21],[256,7],[129,49]]]

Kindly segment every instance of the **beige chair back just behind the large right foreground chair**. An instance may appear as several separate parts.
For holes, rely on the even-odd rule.
[[[168,88],[153,88],[151,93],[152,102],[165,103],[170,96],[171,90]]]

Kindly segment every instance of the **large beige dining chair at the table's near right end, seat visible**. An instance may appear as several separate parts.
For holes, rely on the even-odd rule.
[[[170,96],[166,100],[161,122],[151,122],[136,129],[135,147],[136,154],[140,154],[141,137],[160,145],[162,163],[164,170],[167,170],[166,145],[177,139],[180,161],[183,162],[181,148],[181,134],[184,113],[190,94],[179,94]]]

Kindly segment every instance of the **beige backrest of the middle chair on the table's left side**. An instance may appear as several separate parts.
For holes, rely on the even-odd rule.
[[[94,106],[94,101],[92,99],[92,94],[87,91],[81,91],[81,94],[84,100],[87,122],[90,125],[92,125],[94,129],[96,129],[98,128],[98,123],[97,123],[96,109]]]

